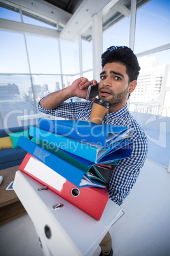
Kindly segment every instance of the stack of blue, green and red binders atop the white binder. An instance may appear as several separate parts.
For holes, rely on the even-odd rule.
[[[81,127],[77,131],[78,122]],[[63,134],[55,133],[58,125]],[[132,130],[93,123],[92,130],[86,130],[86,125],[89,122],[74,120],[58,124],[40,119],[40,128],[30,126],[31,140],[22,136],[18,139],[17,144],[28,152],[20,171],[100,220],[108,201],[106,183],[112,165],[131,154],[133,143],[127,138]],[[82,140],[86,132],[89,136]]]

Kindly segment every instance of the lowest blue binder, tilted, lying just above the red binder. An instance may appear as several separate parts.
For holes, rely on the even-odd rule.
[[[105,185],[93,181],[88,177],[88,174],[79,169],[78,167],[70,164],[66,160],[54,155],[53,153],[45,150],[36,143],[30,141],[29,139],[20,136],[17,141],[18,146],[21,146],[30,155],[33,155],[38,160],[46,164],[46,166],[53,169],[56,173],[60,174],[71,183],[74,183],[77,187],[101,187],[105,188]]]

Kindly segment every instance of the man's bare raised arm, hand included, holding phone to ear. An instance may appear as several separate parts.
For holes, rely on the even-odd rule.
[[[48,96],[44,97],[40,101],[40,104],[47,110],[53,110],[70,97],[77,96],[79,98],[86,99],[89,85],[96,85],[96,83],[96,80],[89,81],[87,78],[78,78],[69,87],[57,92],[52,92]]]

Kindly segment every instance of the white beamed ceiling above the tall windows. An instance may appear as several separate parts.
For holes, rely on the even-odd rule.
[[[137,7],[150,0],[137,0]],[[90,41],[92,17],[102,17],[103,30],[131,13],[131,0],[0,0],[34,17],[49,20],[60,27],[62,39],[74,40],[77,35]]]

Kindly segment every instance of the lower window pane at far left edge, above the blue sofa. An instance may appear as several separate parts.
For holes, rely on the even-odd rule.
[[[24,117],[36,114],[30,88],[30,76],[0,76],[0,129],[34,123],[24,122]]]

